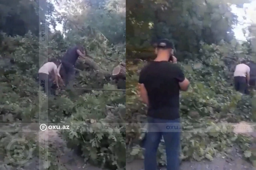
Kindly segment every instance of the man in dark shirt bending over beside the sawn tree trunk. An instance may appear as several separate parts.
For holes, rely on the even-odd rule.
[[[74,65],[76,63],[76,60],[78,59],[78,57],[82,57],[83,59],[85,59],[85,56],[85,49],[80,45],[76,45],[75,47],[68,49],[66,54],[63,56],[61,60],[61,66],[62,68],[64,68],[65,75],[63,77],[66,86],[68,86],[70,80],[72,81],[74,79]],[[58,70],[60,70],[60,67],[58,68]]]

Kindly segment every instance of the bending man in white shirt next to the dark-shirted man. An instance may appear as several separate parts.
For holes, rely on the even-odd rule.
[[[49,95],[49,92],[51,95],[55,94],[52,89],[53,82],[56,82],[56,85],[59,88],[60,74],[58,73],[58,67],[56,64],[58,64],[58,61],[56,59],[51,59],[38,71],[40,86],[42,86],[43,91],[47,96]],[[53,77],[53,80],[51,80],[51,76]]]

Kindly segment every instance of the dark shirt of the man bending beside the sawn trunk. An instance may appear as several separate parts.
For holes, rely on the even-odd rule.
[[[68,49],[66,54],[63,56],[62,60],[67,61],[68,63],[70,63],[72,65],[75,65],[76,60],[79,57],[79,54],[76,52],[76,50],[80,50],[82,52],[83,47],[80,45],[76,45],[75,47]]]

